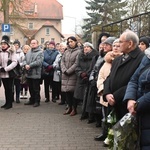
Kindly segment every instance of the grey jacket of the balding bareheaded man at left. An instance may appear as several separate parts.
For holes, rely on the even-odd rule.
[[[31,49],[27,52],[25,56],[25,61],[23,65],[29,65],[30,70],[27,71],[27,78],[40,79],[41,78],[41,68],[43,63],[43,50],[40,47],[36,49]]]

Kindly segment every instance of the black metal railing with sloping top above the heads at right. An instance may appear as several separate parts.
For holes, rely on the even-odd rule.
[[[143,35],[150,36],[150,12],[135,15],[102,26],[102,32],[108,32],[116,37],[119,37],[126,29],[131,29],[137,33],[139,37]]]

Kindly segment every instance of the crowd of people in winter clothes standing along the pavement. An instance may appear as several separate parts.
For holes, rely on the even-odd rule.
[[[81,44],[73,36],[66,44],[46,41],[44,47],[36,39],[30,45],[21,46],[19,40],[10,44],[9,37],[3,36],[0,78],[6,102],[1,108],[10,109],[13,102],[28,98],[28,90],[30,97],[25,105],[40,106],[40,85],[44,84],[45,103],[60,99],[59,105],[66,105],[63,115],[75,116],[78,105],[82,105],[80,119],[101,127],[101,133],[94,139],[104,141],[104,146],[109,146],[105,143],[106,120],[112,109],[117,121],[127,112],[138,116],[140,148],[147,150],[150,149],[149,60],[150,38],[139,38],[131,30],[120,37],[101,33],[96,49],[92,43]],[[9,72],[17,64],[21,76],[12,78]]]

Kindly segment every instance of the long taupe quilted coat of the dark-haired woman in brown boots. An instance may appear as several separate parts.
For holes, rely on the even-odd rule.
[[[75,49],[68,48],[61,59],[61,71],[62,71],[62,92],[74,92],[77,76],[75,69],[77,66],[78,54],[81,50],[76,47]],[[67,72],[68,75],[64,74]]]

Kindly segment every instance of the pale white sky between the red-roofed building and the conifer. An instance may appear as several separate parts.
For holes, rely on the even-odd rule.
[[[87,18],[86,2],[84,0],[57,0],[63,5],[64,20],[62,20],[62,33],[75,34],[81,32],[83,18]]]

